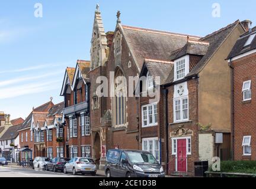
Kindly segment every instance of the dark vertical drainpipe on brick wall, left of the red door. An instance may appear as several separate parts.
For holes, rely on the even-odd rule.
[[[164,113],[164,118],[165,118],[165,148],[166,148],[166,152],[165,152],[165,166],[166,166],[166,170],[167,170],[167,175],[169,174],[169,140],[168,140],[168,89],[164,89],[164,108],[165,108],[165,113]]]

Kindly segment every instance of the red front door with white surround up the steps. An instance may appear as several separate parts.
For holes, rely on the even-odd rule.
[[[177,171],[187,172],[187,140],[177,140]]]

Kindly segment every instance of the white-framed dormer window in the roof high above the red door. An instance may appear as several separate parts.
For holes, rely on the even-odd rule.
[[[189,56],[185,56],[175,61],[175,81],[184,79],[189,72]]]

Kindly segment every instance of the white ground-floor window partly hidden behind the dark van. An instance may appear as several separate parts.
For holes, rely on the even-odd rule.
[[[148,151],[153,154],[158,162],[160,162],[160,154],[159,154],[159,140],[158,138],[146,138],[142,139],[142,150]]]

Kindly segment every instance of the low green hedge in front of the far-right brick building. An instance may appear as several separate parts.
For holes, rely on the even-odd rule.
[[[256,174],[256,161],[222,161],[220,162],[220,170],[221,172]]]

